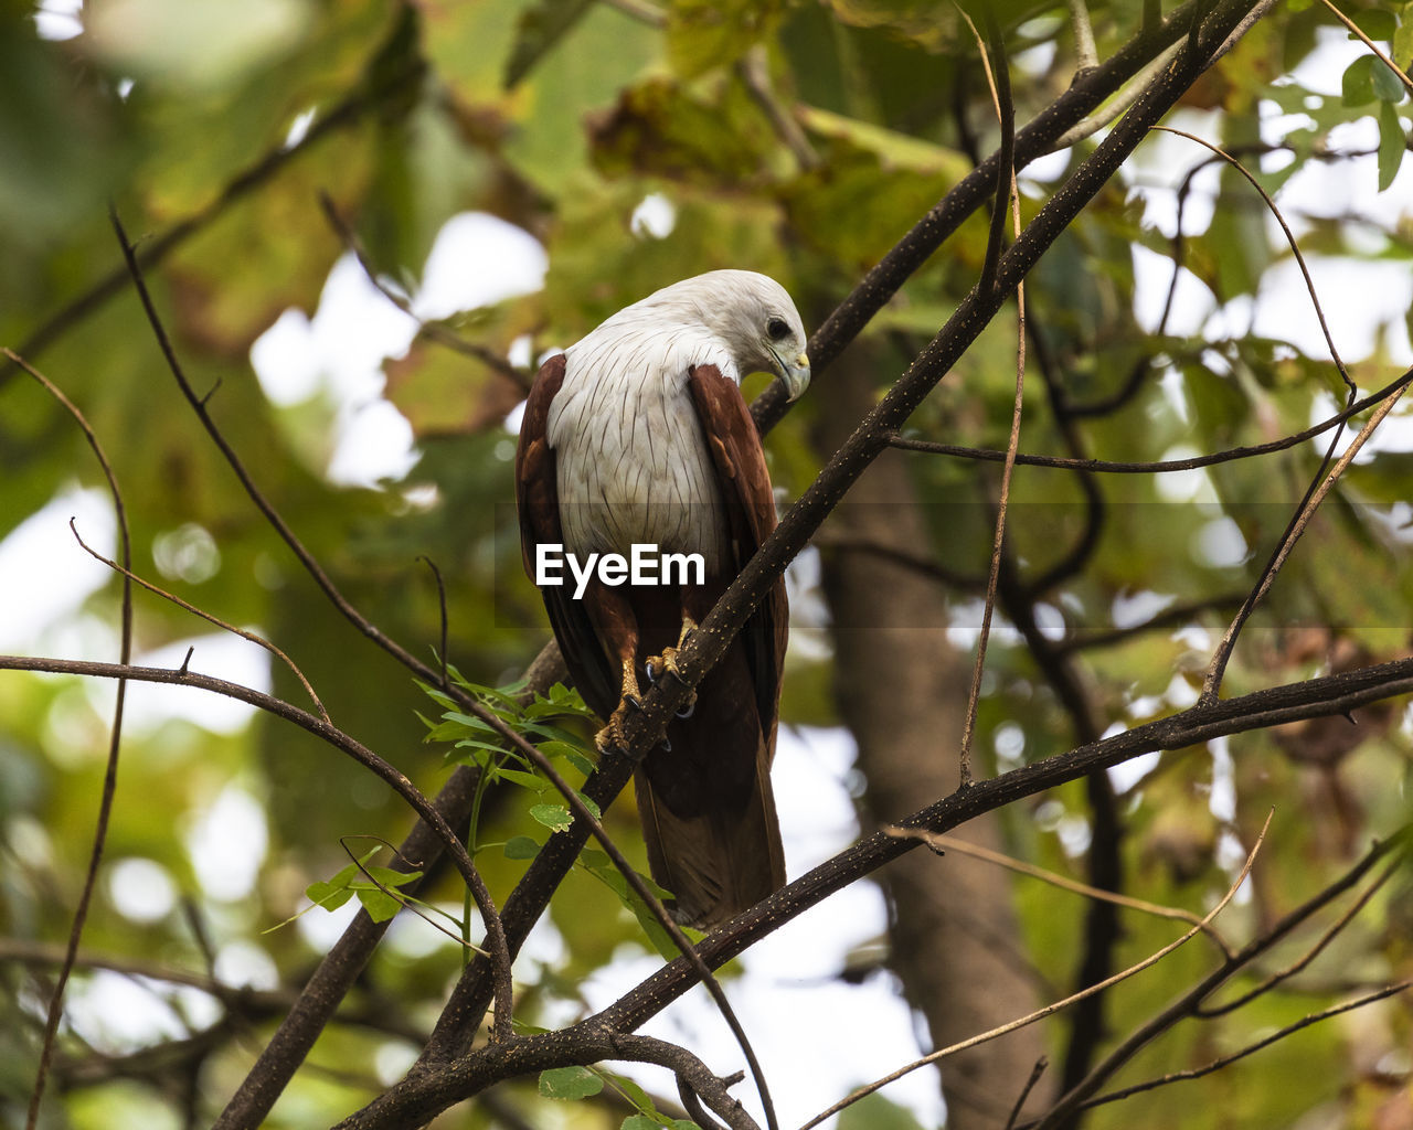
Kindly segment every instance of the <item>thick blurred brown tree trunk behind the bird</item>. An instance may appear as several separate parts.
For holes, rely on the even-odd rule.
[[[842,359],[831,373],[825,453],[845,438],[845,421],[868,410],[866,367]],[[903,458],[885,453],[849,492],[827,530],[846,544],[926,552],[927,535]],[[958,784],[958,750],[971,657],[947,641],[938,582],[861,548],[824,554],[824,589],[834,616],[836,699],[868,778],[865,831],[945,797]],[[995,815],[952,835],[1000,848]],[[1017,941],[1009,877],[957,853],[911,852],[882,873],[890,903],[890,965],[927,1021],[934,1048],[1022,1016],[1037,1006]],[[996,1127],[1043,1054],[1041,1028],[944,1061],[948,1130]],[[1027,1110],[1039,1105],[1044,1081]]]

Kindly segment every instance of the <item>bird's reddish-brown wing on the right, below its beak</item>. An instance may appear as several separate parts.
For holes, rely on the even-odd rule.
[[[688,387],[716,469],[716,484],[726,503],[732,551],[728,572],[735,576],[776,528],[776,499],[770,489],[766,453],[760,446],[756,422],[733,380],[723,377],[715,364],[694,364]],[[781,578],[740,631],[756,692],[756,709],[771,757],[788,622],[786,583]]]

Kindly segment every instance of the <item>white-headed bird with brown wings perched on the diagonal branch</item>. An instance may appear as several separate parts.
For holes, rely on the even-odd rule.
[[[540,586],[569,675],[605,723],[601,751],[626,749],[643,685],[675,674],[677,650],[776,525],[740,380],[774,373],[797,400],[805,340],[777,281],[708,271],[625,307],[531,384],[516,448],[531,579],[545,547],[579,562],[634,545],[701,558],[691,583],[615,583],[601,569],[578,597],[569,583]],[[779,579],[634,767],[649,866],[680,924],[714,928],[784,886],[770,766],[787,630]]]

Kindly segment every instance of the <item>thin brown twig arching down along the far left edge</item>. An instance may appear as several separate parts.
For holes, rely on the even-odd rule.
[[[31,366],[18,353],[8,349],[3,350],[3,353],[13,364],[34,377],[44,391],[54,397],[54,400],[64,407],[64,410],[73,418],[73,422],[82,429],[83,438],[88,441],[89,448],[92,448],[93,456],[97,459],[97,465],[103,470],[103,477],[107,480],[109,494],[113,496],[113,513],[117,518],[117,537],[119,545],[122,547],[123,564],[130,566],[133,564],[133,540],[127,527],[127,509],[123,506],[123,492],[117,484],[117,476],[113,473],[113,465],[109,463],[107,455],[103,452],[103,445],[99,442],[92,425],[88,422],[83,412],[79,411],[78,405],[38,369]],[[119,643],[119,662],[126,667],[133,657],[133,585],[126,578],[123,579],[120,624],[122,641]],[[49,993],[49,1004],[44,1018],[44,1042],[40,1049],[40,1066],[34,1074],[34,1086],[30,1090],[30,1107],[25,1113],[24,1123],[25,1130],[34,1130],[40,1122],[40,1103],[44,1099],[44,1088],[49,1078],[49,1068],[54,1062],[55,1041],[59,1034],[59,1020],[64,1016],[64,990],[69,983],[69,975],[73,972],[73,962],[78,959],[79,952],[79,939],[83,936],[83,924],[88,921],[89,907],[93,904],[93,888],[97,884],[97,869],[99,863],[103,860],[103,846],[107,842],[109,818],[113,814],[113,799],[117,795],[117,754],[123,740],[123,708],[126,703],[127,679],[119,679],[117,698],[113,703],[113,725],[109,730],[107,759],[103,767],[103,791],[99,795],[97,818],[93,822],[93,843],[89,849],[88,870],[83,873],[83,890],[79,893],[78,905],[73,908],[73,922],[69,925],[69,939],[64,951],[64,965],[59,966],[59,975],[54,982],[54,990]]]

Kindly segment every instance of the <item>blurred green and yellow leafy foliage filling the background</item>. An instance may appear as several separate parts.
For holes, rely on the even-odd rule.
[[[1338,6],[1407,71],[1413,7]],[[1070,6],[992,7],[1024,124],[1074,78]],[[1137,32],[1145,7],[1088,4],[1101,61]],[[55,24],[48,7],[38,23],[35,14],[30,6],[0,14],[0,345],[49,374],[100,438],[124,493],[136,573],[230,623],[257,626],[298,664],[332,722],[422,791],[434,792],[458,766],[482,770],[475,815],[458,832],[469,832],[476,866],[503,905],[550,836],[569,825],[564,798],[485,720],[444,691],[414,684],[355,631],[271,533],[167,379],[120,271],[106,202],[148,256],[155,302],[220,434],[332,583],[432,670],[445,614],[455,685],[572,770],[578,785],[596,764],[595,722],[582,701],[562,686],[526,699],[513,682],[547,636],[509,507],[506,421],[523,397],[527,359],[667,281],[715,267],[779,277],[818,326],[995,148],[999,133],[971,32],[950,7],[916,0],[126,0],[88,6],[69,25]],[[73,34],[51,38],[54,27]],[[1361,394],[1410,362],[1410,105],[1399,78],[1324,4],[1289,3],[1193,85],[1169,119],[1241,160],[1273,195]],[[1095,144],[1081,138],[1022,171],[1026,222]],[[341,346],[352,335],[336,311],[360,270],[325,222],[321,196],[357,233],[383,282],[414,299],[432,274],[428,256],[439,233],[465,212],[533,236],[548,263],[543,287],[468,299],[437,322],[480,356],[400,322],[403,338],[350,363]],[[882,394],[972,290],[986,240],[986,216],[976,212],[838,364],[866,370]],[[462,280],[496,277],[507,266],[493,250],[479,254],[456,264]],[[1177,459],[1300,432],[1344,403],[1345,384],[1284,236],[1243,177],[1184,138],[1154,133],[1026,285],[1026,453]],[[403,318],[377,302],[355,315],[359,329],[384,314]],[[308,370],[304,380],[287,373],[281,381],[259,364],[278,338],[264,336],[276,325],[302,350],[295,367]],[[1007,311],[917,410],[909,435],[1005,448],[1015,346]],[[513,360],[512,371],[486,356]],[[774,480],[790,497],[831,453],[818,439],[839,411],[831,380],[822,371],[769,436]],[[410,468],[350,483],[331,466],[339,452],[367,453],[367,432],[355,427],[366,422],[365,410],[384,420],[400,414],[414,448]],[[1407,420],[1405,407],[1395,408],[1296,547],[1242,636],[1226,695],[1407,654]],[[1258,579],[1331,435],[1170,473],[1020,466],[1009,545],[1043,630],[1023,637],[1019,612],[1002,609],[978,713],[981,760],[1007,770],[1081,744],[1072,703],[1053,678],[1057,662],[1075,672],[1101,730],[1188,706],[1234,596]],[[998,475],[972,459],[906,458],[926,535],[909,551],[951,578],[944,619],[906,627],[947,633],[961,646],[979,610]],[[0,650],[116,658],[119,582],[85,572],[92,562],[64,527],[75,510],[92,514],[79,531],[109,552],[110,507],[96,501],[103,489],[72,421],[6,366]],[[58,533],[41,542],[40,531]],[[836,541],[822,552],[853,551]],[[418,557],[437,562],[444,600]],[[4,572],[14,561],[24,568]],[[832,593],[805,568],[798,579],[787,732],[790,723],[838,723],[839,633],[869,627],[831,620]],[[1183,614],[1163,620],[1170,609]],[[1149,617],[1159,619],[1139,630]],[[137,593],[138,661],[177,668],[188,646],[192,671],[226,671],[307,702],[288,671],[263,665],[264,653],[242,658],[244,644],[237,654],[175,605]],[[877,686],[845,689],[886,698],[885,674]],[[249,1069],[247,1048],[267,1040],[277,1020],[273,1006],[227,992],[226,982],[250,976],[292,992],[329,948],[322,915],[273,929],[307,908],[305,896],[325,910],[356,900],[379,921],[411,904],[449,915],[468,934],[472,927],[447,869],[413,860],[401,872],[373,866],[373,856],[346,863],[345,838],[404,836],[410,814],[390,790],[311,733],[168,689],[185,698],[129,688],[117,802],[82,949],[220,985],[141,982],[153,999],[144,1004],[201,1037],[179,1045],[191,1058],[177,1068],[150,1068],[177,1028],[114,1024],[102,994],[116,975],[81,969],[59,1040],[62,1086],[51,1086],[45,1106],[55,1126],[161,1124],[188,1113],[209,1123]],[[434,750],[417,742],[428,696],[435,710],[425,739]],[[78,677],[0,674],[6,1124],[32,1083],[42,997],[82,888],[112,702],[110,686]],[[1096,848],[1091,799],[1080,784],[1065,785],[1006,812],[1005,848],[1085,879],[1108,846],[1128,893],[1201,912],[1226,890],[1234,859],[1275,807],[1249,897],[1224,922],[1239,944],[1406,819],[1406,709],[1369,706],[1354,720],[1306,719],[1154,756],[1145,775],[1115,778],[1123,835],[1111,845]],[[914,753],[951,757],[954,744],[940,732],[935,751]],[[858,792],[868,783],[852,785]],[[829,787],[842,792],[838,781]],[[646,872],[632,804],[599,815]],[[133,874],[147,876],[136,890],[148,901],[134,898]],[[414,886],[415,894],[407,890]],[[1198,1068],[1349,986],[1406,976],[1410,891],[1403,864],[1290,992],[1167,1033],[1135,1061],[1133,1078]],[[1037,986],[1063,994],[1085,945],[1087,904],[1031,880],[1016,881],[1015,898],[1020,936],[1007,945],[1024,955],[1017,962]],[[295,1076],[266,1124],[302,1129],[343,1117],[370,1089],[386,1088],[389,1062],[438,1014],[465,955],[441,936],[418,941],[420,924],[404,925],[397,922],[349,999],[357,1023],[329,1027],[309,1071]],[[531,948],[516,970],[517,1023],[588,1013],[584,986],[615,961],[677,952],[596,849],[579,856],[555,893],[544,934],[552,945]],[[811,935],[811,946],[838,948],[842,966],[853,939],[822,934]],[[1137,961],[1171,936],[1170,921],[1125,912],[1115,961]],[[1111,994],[1109,1044],[1164,1007],[1174,985],[1211,968],[1217,955],[1200,944],[1174,955],[1161,975]],[[1246,970],[1231,992],[1258,980]],[[890,992],[875,979],[849,993],[862,1000],[875,990]],[[213,1010],[225,1018],[209,1027]],[[1368,1016],[1362,1027],[1311,1025],[1229,1071],[1183,1083],[1193,1098],[1181,1105],[1157,1089],[1096,1109],[1088,1124],[1205,1126],[1215,1109],[1232,1127],[1294,1124],[1311,1112],[1348,1126],[1395,1124],[1407,1086],[1399,1051],[1410,1027],[1406,999]],[[796,1041],[791,1055],[804,1057],[804,1047],[822,1057],[838,1042],[838,1033],[801,1033],[793,1020],[780,1018],[781,1042]],[[225,1038],[227,1021],[250,1041]],[[851,1038],[882,1040],[853,1031],[848,1017],[839,1027]],[[1051,1021],[1047,1038],[1058,1062],[1068,1040],[1063,1021]],[[85,1074],[86,1062],[102,1069]],[[649,1089],[661,1081],[642,1078]],[[852,1082],[820,1071],[808,1096],[784,1102],[808,1105],[803,1120]],[[502,1088],[531,1123],[688,1124],[663,1113],[671,1103],[649,1089],[602,1066],[554,1069],[538,1088]],[[468,1114],[476,1126],[486,1117]],[[918,1119],[926,1122],[875,1096],[845,1112],[841,1126],[906,1127]]]

